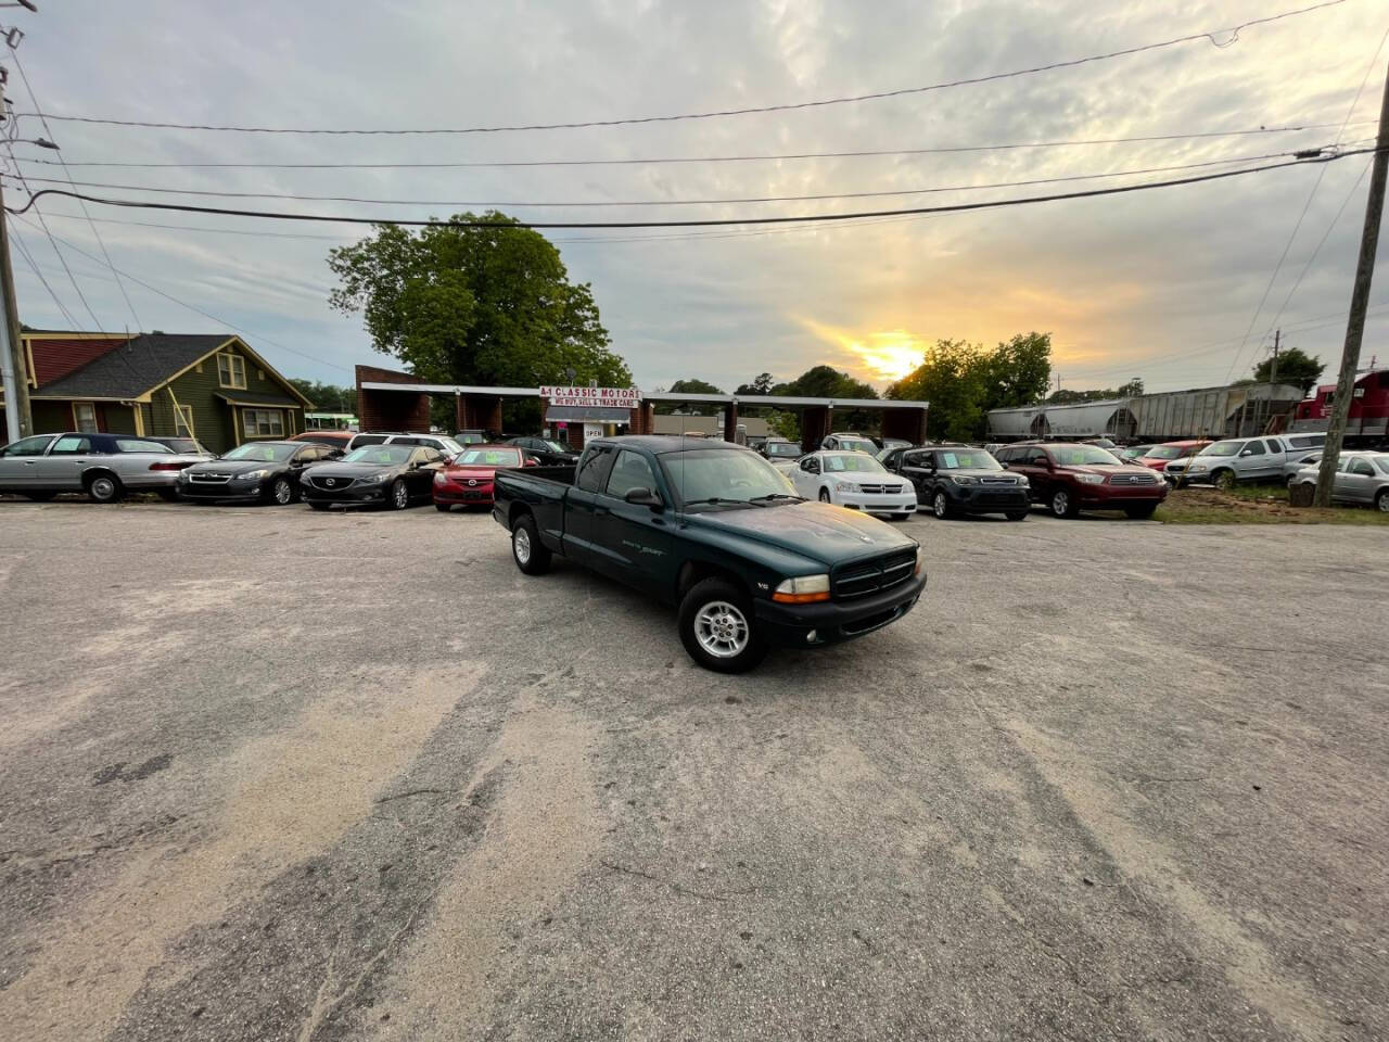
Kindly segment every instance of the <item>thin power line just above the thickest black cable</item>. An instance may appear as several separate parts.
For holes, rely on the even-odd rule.
[[[1311,151],[1310,149],[1301,153]],[[988,185],[939,185],[933,188],[883,189],[878,192],[825,192],[808,196],[735,196],[717,199],[625,199],[625,200],[575,200],[563,203],[526,201],[526,200],[488,200],[488,199],[364,199],[361,196],[311,196],[289,192],[222,192],[215,189],[193,188],[153,188],[147,185],[113,185],[101,181],[60,181],[58,178],[26,176],[26,181],[42,185],[72,185],[72,188],[104,188],[122,192],[151,192],[158,195],[176,196],[210,196],[215,199],[289,199],[314,203],[369,203],[379,206],[479,206],[479,207],[517,207],[517,208],[588,208],[588,207],[621,207],[621,206],[721,206],[728,203],[808,203],[831,199],[881,199],[888,196],[922,196],[938,192],[981,192],[996,188],[1024,188],[1029,185],[1056,185],[1071,181],[1096,181],[1100,178],[1139,176],[1145,174],[1170,174],[1179,169],[1201,169],[1206,167],[1220,167],[1233,163],[1258,163],[1297,156],[1295,151],[1271,151],[1261,156],[1233,156],[1224,160],[1203,160],[1200,163],[1179,163],[1167,167],[1146,167],[1142,169],[1118,169],[1103,174],[1071,174],[1057,178],[1029,178],[1026,181],[997,181]]]

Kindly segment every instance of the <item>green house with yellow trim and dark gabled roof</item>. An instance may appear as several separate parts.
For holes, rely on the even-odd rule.
[[[304,431],[313,408],[229,333],[24,332],[35,433],[196,438],[214,453]]]

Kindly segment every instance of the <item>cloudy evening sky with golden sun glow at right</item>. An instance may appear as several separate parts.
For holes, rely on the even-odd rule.
[[[26,33],[19,60],[39,106],[51,114],[396,129],[599,121],[895,90],[1157,43],[1313,1],[50,0],[36,15],[0,15]],[[1379,50],[1386,31],[1382,0],[1346,0],[1246,28],[1233,43],[1228,32],[1215,35],[1229,46],[1201,39],[885,100],[607,128],[419,136],[79,122],[50,128],[74,179],[121,186],[88,190],[125,199],[411,218],[494,204],[519,218],[578,221],[896,210],[1257,165],[1251,157],[1335,142],[1364,81],[1340,136],[1363,146],[1374,135],[1389,61],[1389,47]],[[33,107],[13,68],[7,96],[18,111]],[[1225,133],[1310,124],[1322,126]],[[1222,136],[920,151],[1215,132]],[[21,121],[21,138],[40,133],[36,119]],[[893,154],[442,169],[78,165],[703,160],[825,151]],[[29,161],[51,160],[53,153],[19,144],[15,154],[33,190],[44,186],[38,178],[64,176],[61,167]],[[1188,168],[1224,160],[1245,163]],[[1185,169],[1125,174],[1158,167]],[[786,379],[818,363],[885,386],[920,360],[921,345],[938,338],[995,343],[1029,329],[1051,332],[1063,386],[1113,386],[1136,375],[1151,389],[1175,389],[1245,375],[1267,353],[1275,321],[1286,343],[1328,361],[1339,357],[1367,168],[1368,157],[1350,157],[1125,196],[833,226],[549,235],[571,276],[593,283],[614,349],[649,389],[686,377],[731,389],[764,370]],[[1096,174],[1124,175],[972,188]],[[404,201],[218,200],[142,190],[150,188]],[[632,206],[850,193],[903,195]],[[6,178],[6,201],[24,199]],[[590,206],[613,203],[621,206]],[[49,199],[39,206],[72,278],[32,211],[11,222],[11,235],[18,233],[53,295],[83,328],[239,326],[289,375],[343,383],[351,382],[354,363],[385,361],[358,318],[326,304],[326,251],[363,235],[364,225],[90,206],[115,267],[153,288],[126,282],[136,320],[76,203]],[[1381,261],[1365,363],[1374,354],[1389,361],[1386,267]],[[24,321],[68,326],[29,257],[17,251],[15,268]]]

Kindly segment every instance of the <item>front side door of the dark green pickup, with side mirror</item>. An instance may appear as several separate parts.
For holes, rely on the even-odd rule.
[[[638,589],[675,589],[668,517],[646,503],[628,503],[632,489],[660,495],[646,457],[619,449],[607,488],[593,504],[594,567]]]

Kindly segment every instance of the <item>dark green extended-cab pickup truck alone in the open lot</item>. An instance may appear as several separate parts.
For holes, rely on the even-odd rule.
[[[685,650],[720,672],[771,643],[871,634],[926,585],[917,542],[797,496],[757,453],[696,438],[594,439],[574,467],[497,471],[492,515],[526,575],[553,554],[679,606]]]

